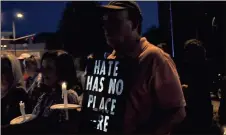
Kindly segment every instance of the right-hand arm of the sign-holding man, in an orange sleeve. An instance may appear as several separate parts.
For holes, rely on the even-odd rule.
[[[160,58],[154,72],[154,89],[158,108],[154,133],[164,135],[170,133],[185,118],[186,103],[172,59]]]

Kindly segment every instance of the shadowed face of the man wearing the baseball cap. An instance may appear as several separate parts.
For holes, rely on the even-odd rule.
[[[122,44],[132,35],[132,21],[128,19],[127,10],[108,12],[103,20],[107,43],[113,49],[124,50],[126,47]]]

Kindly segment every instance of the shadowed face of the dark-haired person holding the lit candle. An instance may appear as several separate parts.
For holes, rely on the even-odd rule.
[[[57,83],[58,78],[54,60],[45,59],[42,61],[42,75],[44,84],[53,87]]]

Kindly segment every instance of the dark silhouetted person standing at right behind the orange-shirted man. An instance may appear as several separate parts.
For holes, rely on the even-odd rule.
[[[212,81],[201,41],[191,39],[185,42],[183,62],[181,83],[187,103],[185,128],[192,133],[209,133],[213,118],[209,89]]]

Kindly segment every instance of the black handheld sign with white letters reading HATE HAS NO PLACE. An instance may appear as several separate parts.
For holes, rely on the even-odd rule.
[[[82,129],[86,133],[120,133],[129,90],[128,62],[89,60],[83,95]]]

